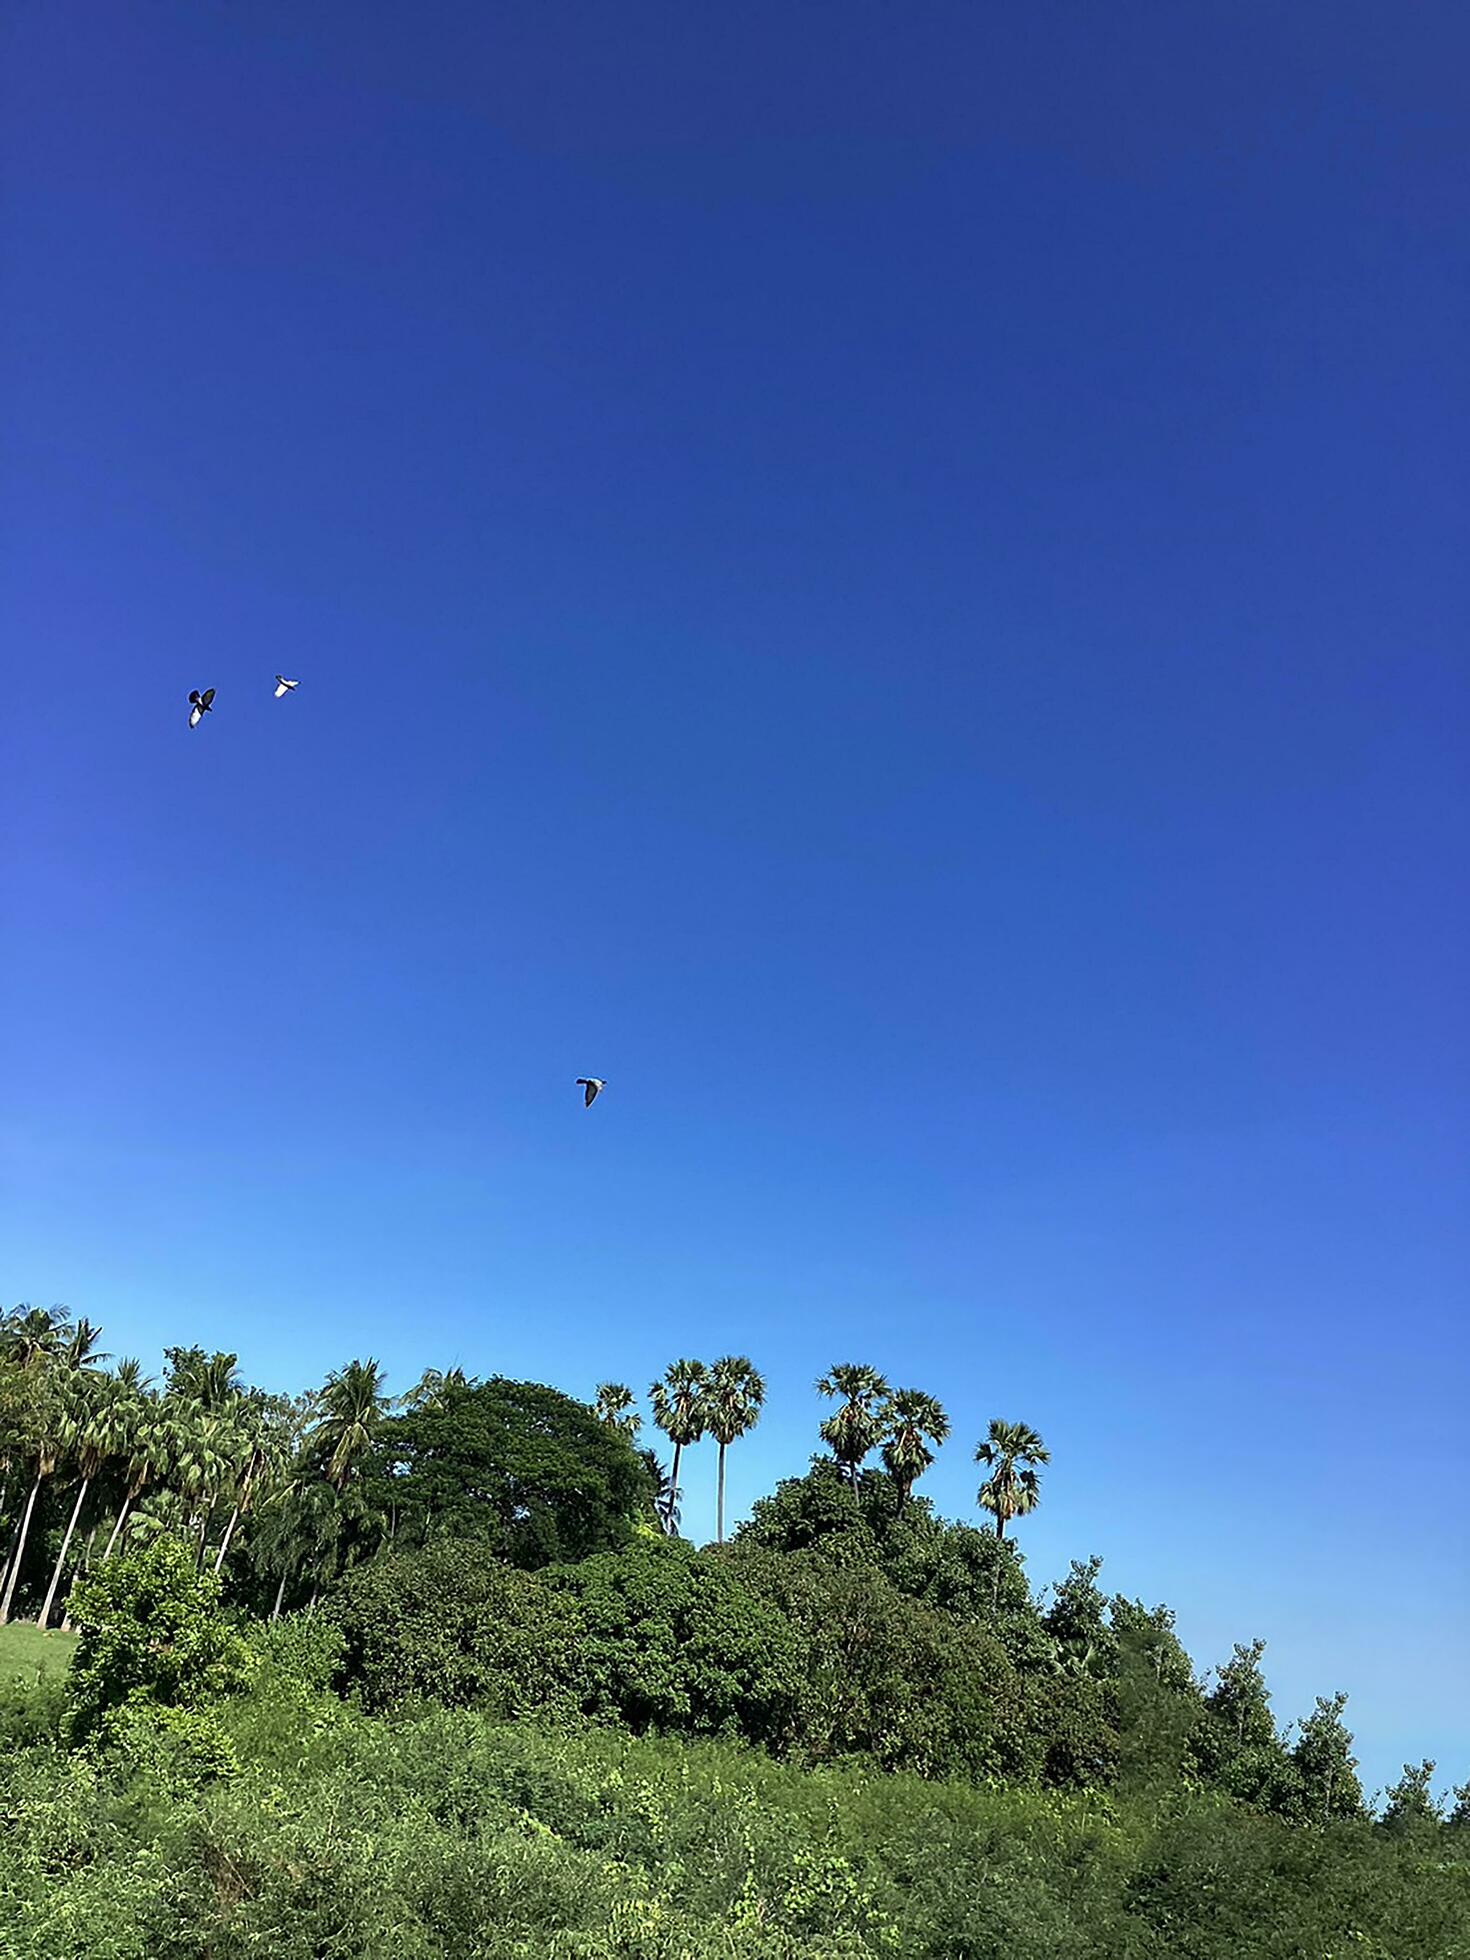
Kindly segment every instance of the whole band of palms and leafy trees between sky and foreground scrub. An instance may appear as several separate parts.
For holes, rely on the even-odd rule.
[[[280,1397],[233,1354],[169,1348],[163,1380],[104,1366],[100,1331],[16,1309],[0,1327],[4,1617],[65,1623],[71,1588],[171,1543],[243,1617],[302,1613],[339,1639],[335,1686],[368,1709],[431,1699],[498,1717],[739,1739],[804,1766],[1033,1789],[1207,1791],[1298,1825],[1364,1819],[1345,1697],[1282,1733],[1262,1642],[1200,1680],[1166,1607],[1074,1562],[1035,1597],[1007,1523],[1039,1501],[1041,1437],[976,1448],[990,1527],[935,1517],[915,1484],[939,1403],[833,1368],[827,1452],[723,1539],[723,1458],[759,1419],[743,1356],[680,1360],[635,1397],[429,1372],[396,1401],[374,1362]],[[717,1543],[676,1537],[684,1452],[719,1452]],[[1460,1831],[1405,1768],[1382,1829]]]

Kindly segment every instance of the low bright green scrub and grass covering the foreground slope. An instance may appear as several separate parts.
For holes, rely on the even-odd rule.
[[[1470,1864],[1366,1827],[390,1723],[274,1670],[221,1721],[202,1788],[0,1756],[4,1960],[1470,1960]]]

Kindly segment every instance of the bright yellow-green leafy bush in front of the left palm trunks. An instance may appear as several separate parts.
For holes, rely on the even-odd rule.
[[[249,1646],[220,1611],[218,1578],[196,1572],[190,1546],[176,1539],[157,1537],[78,1584],[73,1619],[69,1733],[78,1742],[135,1735],[149,1709],[202,1709],[255,1672]]]

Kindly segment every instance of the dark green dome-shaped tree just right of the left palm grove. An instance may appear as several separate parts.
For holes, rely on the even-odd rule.
[[[378,1515],[392,1509],[400,1544],[410,1535],[478,1541],[535,1568],[627,1544],[653,1490],[633,1445],[586,1403],[490,1380],[388,1419],[365,1499]]]

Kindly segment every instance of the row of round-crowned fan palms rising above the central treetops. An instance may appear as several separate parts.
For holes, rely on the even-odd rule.
[[[864,1460],[878,1450],[902,1511],[935,1460],[935,1450],[949,1439],[949,1417],[939,1399],[921,1388],[890,1388],[864,1362],[839,1362],[817,1380],[817,1394],[837,1403],[819,1425],[819,1435],[853,1490],[858,1490]],[[764,1399],[766,1384],[745,1354],[727,1354],[708,1366],[700,1360],[676,1360],[649,1386],[653,1421],[674,1450],[659,1501],[664,1531],[678,1527],[684,1450],[713,1437],[719,1450],[715,1539],[725,1543],[725,1450],[755,1429]],[[594,1407],[612,1429],[629,1441],[637,1439],[643,1417],[633,1390],[623,1382],[602,1382]],[[996,1417],[986,1439],[976,1445],[974,1460],[990,1470],[976,1501],[994,1517],[996,1535],[1004,1539],[1005,1525],[1035,1511],[1041,1501],[1037,1472],[1051,1462],[1051,1452],[1027,1423]]]

